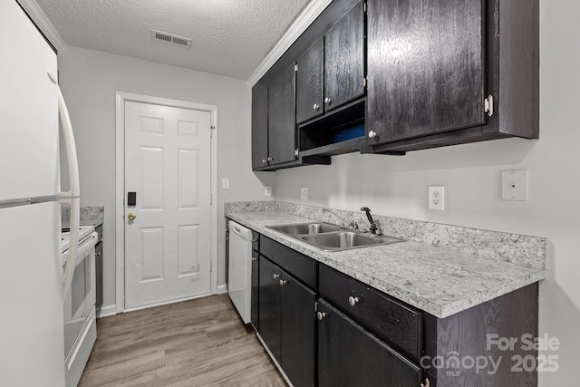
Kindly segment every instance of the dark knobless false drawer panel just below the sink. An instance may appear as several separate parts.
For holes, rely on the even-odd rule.
[[[260,236],[260,253],[296,276],[304,284],[313,289],[316,288],[316,261],[311,257],[304,256],[264,236]]]

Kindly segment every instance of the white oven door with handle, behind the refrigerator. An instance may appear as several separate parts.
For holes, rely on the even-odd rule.
[[[84,238],[77,250],[73,285],[64,302],[64,356],[68,356],[95,304],[94,245],[98,234]],[[68,253],[63,253],[63,273]]]

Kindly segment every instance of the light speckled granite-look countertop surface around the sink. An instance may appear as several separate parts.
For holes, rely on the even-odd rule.
[[[266,227],[314,221],[283,211],[227,211],[226,217],[440,318],[546,278],[544,269],[411,240],[324,252]]]

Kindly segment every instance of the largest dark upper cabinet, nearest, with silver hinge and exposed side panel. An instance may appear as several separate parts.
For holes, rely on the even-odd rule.
[[[538,5],[368,0],[369,152],[538,136]]]

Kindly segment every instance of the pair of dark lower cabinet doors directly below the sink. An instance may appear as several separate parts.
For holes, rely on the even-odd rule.
[[[266,257],[259,258],[259,334],[288,379],[314,386],[316,295]]]

